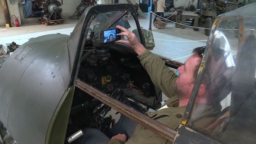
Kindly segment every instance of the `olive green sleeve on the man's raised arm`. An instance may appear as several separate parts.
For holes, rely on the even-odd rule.
[[[177,75],[165,65],[165,61],[146,50],[138,56],[143,68],[148,72],[153,84],[164,92],[167,97],[176,95],[174,84]]]

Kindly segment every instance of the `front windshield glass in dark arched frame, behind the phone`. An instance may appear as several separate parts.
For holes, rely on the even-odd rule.
[[[92,20],[89,32],[87,34],[87,39],[89,40],[91,33],[94,33],[96,40],[99,41],[101,31],[116,29],[116,25],[120,25],[134,33],[136,33],[135,31],[138,31],[137,25],[135,23],[133,16],[128,14],[127,12],[124,12],[124,11],[105,12],[105,13],[98,14]],[[116,38],[115,37],[116,35],[113,32],[109,32],[107,35],[104,34],[104,37],[106,39],[105,41],[107,41],[107,39],[110,38],[111,34],[114,36],[114,38]],[[137,37],[140,40],[138,34],[137,34]],[[127,37],[121,36],[121,39],[127,39]]]

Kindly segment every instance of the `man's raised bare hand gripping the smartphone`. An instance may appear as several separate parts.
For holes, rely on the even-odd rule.
[[[126,36],[128,38],[126,40],[119,40],[117,41],[118,43],[124,43],[127,46],[131,47],[138,55],[145,52],[146,48],[144,48],[144,46],[139,43],[134,33],[130,32],[122,26],[117,25],[116,27],[123,31],[119,33],[119,36]]]

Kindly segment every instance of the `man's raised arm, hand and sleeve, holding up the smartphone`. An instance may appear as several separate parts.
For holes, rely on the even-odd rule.
[[[138,42],[134,33],[121,26],[117,26],[117,28],[123,31],[119,33],[119,35],[124,35],[128,38],[127,40],[119,40],[117,42],[127,44],[129,47],[134,49],[134,51],[139,55],[138,58],[140,59],[140,63],[148,72],[153,84],[156,87],[159,87],[168,97],[176,95],[173,86],[177,79],[177,75],[174,74],[174,71],[171,71],[165,65],[165,62],[158,56],[152,54],[149,50],[146,50],[144,46]]]

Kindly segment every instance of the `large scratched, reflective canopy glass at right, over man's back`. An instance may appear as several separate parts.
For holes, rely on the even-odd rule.
[[[256,142],[256,5],[244,8],[217,22],[187,123],[221,143]]]

